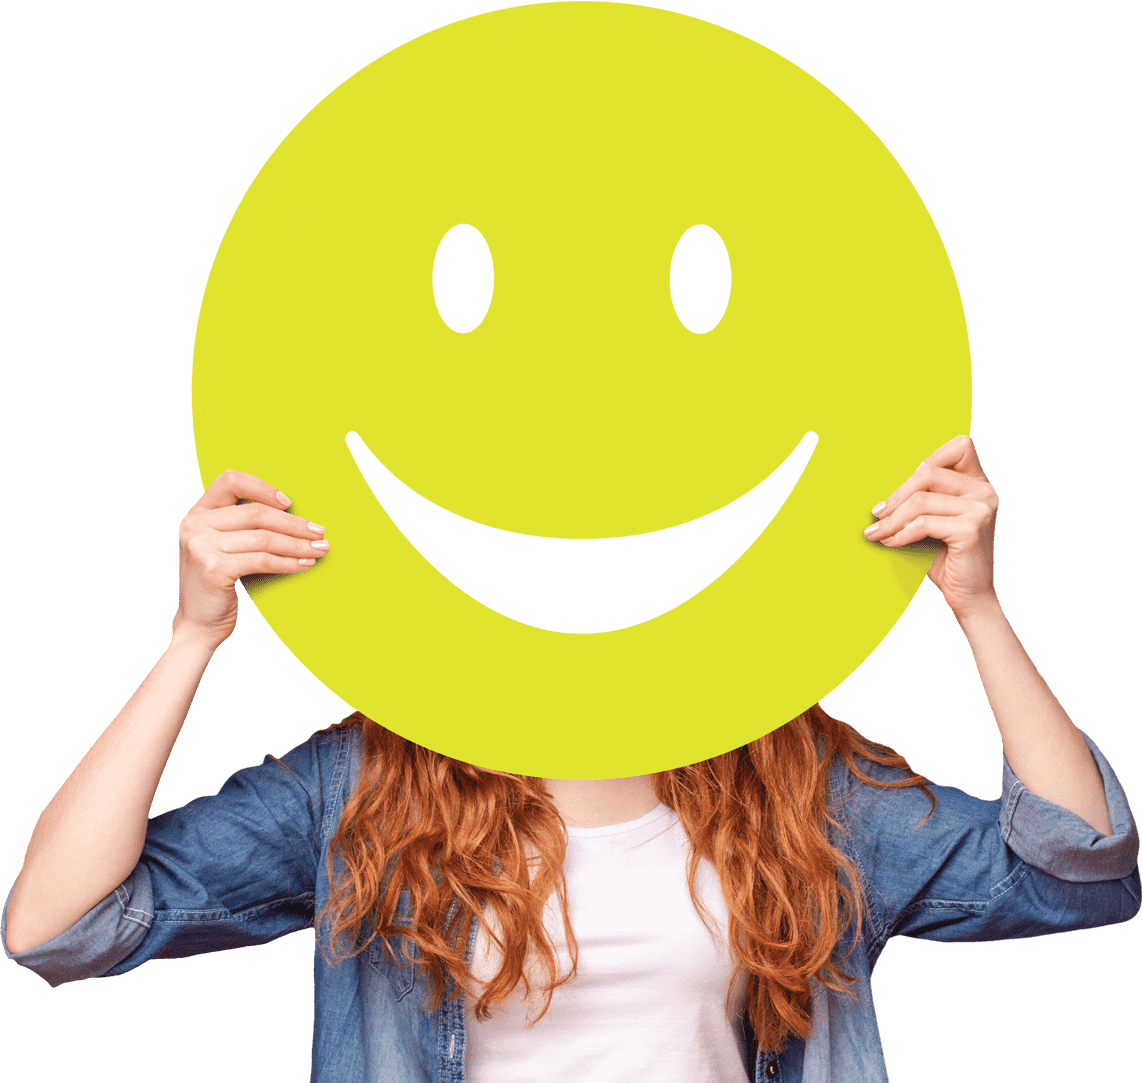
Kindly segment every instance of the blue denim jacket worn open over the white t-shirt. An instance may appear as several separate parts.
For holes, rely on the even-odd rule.
[[[830,801],[849,833],[833,842],[868,895],[855,950],[842,969],[857,996],[814,984],[807,1040],[777,1053],[757,1048],[743,1021],[753,1083],[885,1083],[871,977],[890,937],[945,942],[1006,940],[1129,921],[1140,909],[1138,831],[1114,771],[1085,735],[1103,777],[1113,834],[1101,835],[1030,793],[1002,760],[999,800],[932,786],[880,789],[831,765]],[[232,775],[214,796],[153,817],[130,876],[70,929],[5,954],[53,988],[127,973],[152,958],[183,958],[267,944],[313,929],[329,896],[326,853],[361,760],[357,727],[314,733],[280,761]],[[858,761],[892,780],[896,769]],[[832,831],[832,829],[831,829]],[[335,875],[339,869],[335,863]],[[401,895],[407,915],[408,897]],[[469,932],[472,960],[475,922]],[[321,934],[328,937],[328,929]],[[328,939],[323,941],[329,949]],[[853,946],[852,933],[842,953]],[[400,958],[400,956],[397,956]],[[314,952],[311,1083],[459,1083],[464,1001],[426,1010],[411,964],[391,965],[374,942],[341,966]],[[450,986],[451,988],[451,982]]]

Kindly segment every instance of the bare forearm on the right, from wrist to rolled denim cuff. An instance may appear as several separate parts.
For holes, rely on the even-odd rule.
[[[1103,779],[1084,735],[1032,664],[999,600],[958,621],[1016,777],[1033,794],[1112,834]]]

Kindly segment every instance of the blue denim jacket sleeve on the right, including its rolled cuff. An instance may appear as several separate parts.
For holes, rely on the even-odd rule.
[[[1127,795],[1087,735],[1113,833],[1028,791],[1001,764],[1001,794],[982,801],[933,785],[885,789],[847,773],[844,850],[866,891],[871,963],[890,937],[946,942],[1023,939],[1098,929],[1140,910],[1140,840]],[[862,763],[870,777],[903,771]]]

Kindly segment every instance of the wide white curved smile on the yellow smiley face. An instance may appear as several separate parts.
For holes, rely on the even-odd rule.
[[[785,462],[726,507],[626,538],[536,538],[474,523],[414,492],[357,433],[345,442],[373,495],[409,543],[478,602],[552,632],[612,632],[694,596],[750,548],[817,446],[806,433]]]

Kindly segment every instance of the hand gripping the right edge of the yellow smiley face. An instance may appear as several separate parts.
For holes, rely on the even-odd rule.
[[[937,538],[928,577],[958,620],[997,603],[992,549],[1000,498],[968,436],[941,444],[884,505],[873,508],[880,522],[865,537],[892,548]]]

